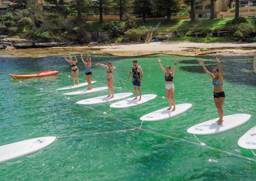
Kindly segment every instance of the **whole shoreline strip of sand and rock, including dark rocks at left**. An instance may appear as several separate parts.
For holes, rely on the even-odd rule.
[[[191,42],[152,42],[144,43],[112,43],[90,42],[78,44],[74,42],[33,42],[26,39],[0,36],[0,56],[49,56],[79,54],[80,52],[108,53],[116,56],[140,56],[148,54],[171,54],[181,56],[206,55],[246,55],[252,56],[256,43],[191,43]],[[2,50],[1,50],[2,49]]]

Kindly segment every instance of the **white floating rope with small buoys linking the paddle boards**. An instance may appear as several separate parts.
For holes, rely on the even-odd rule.
[[[16,78],[15,78],[15,79],[16,79]],[[18,79],[17,79],[17,80],[18,80]],[[21,82],[21,81],[20,81],[20,82]],[[21,83],[23,83],[23,82],[21,82]],[[99,83],[100,83],[100,82],[99,82]],[[25,83],[24,83],[24,84],[25,84]],[[25,84],[25,85],[30,86],[29,84]],[[31,86],[31,87],[34,87],[34,86]],[[37,87],[35,87],[35,88],[37,88]],[[40,88],[40,89],[42,89],[42,88]],[[124,90],[125,90],[125,89],[124,89]],[[57,92],[56,92],[55,95],[59,95],[59,96],[63,97],[62,95],[57,94]],[[67,97],[65,97],[65,98],[67,98]],[[67,98],[67,99],[68,99],[69,101],[75,102],[75,101],[71,100],[70,98]],[[75,103],[76,103],[76,102],[75,102]],[[99,113],[102,113],[101,111],[95,110],[95,109],[93,109],[93,108],[91,108],[91,107],[87,107],[87,106],[85,106],[85,105],[82,105],[82,106],[84,106],[84,107],[86,107],[86,108],[89,108],[89,109],[91,109],[91,110],[97,111],[97,112],[99,112]],[[111,110],[111,108],[110,108],[110,110]],[[110,111],[110,110],[109,110],[109,111]],[[104,114],[104,113],[102,113],[102,114]],[[173,138],[173,139],[178,139],[178,140],[181,140],[181,141],[193,143],[193,144],[195,144],[195,145],[205,146],[205,147],[207,147],[207,148],[209,148],[209,149],[218,150],[219,152],[224,152],[224,153],[227,153],[227,154],[231,154],[231,155],[233,155],[233,156],[237,156],[237,157],[240,157],[240,158],[246,158],[247,160],[256,161],[256,160],[254,160],[254,159],[252,159],[252,158],[247,158],[247,157],[240,156],[240,155],[237,155],[237,154],[234,154],[234,153],[230,153],[230,152],[226,152],[226,151],[224,151],[224,150],[220,150],[220,149],[217,149],[217,148],[214,148],[214,147],[206,146],[204,143],[200,142],[199,139],[197,139],[197,140],[198,140],[201,144],[195,143],[195,142],[192,142],[192,141],[188,141],[188,140],[183,139],[183,138],[172,137],[172,136],[169,136],[169,135],[164,135],[164,134],[157,133],[157,132],[154,132],[154,131],[142,129],[141,126],[142,126],[143,121],[142,121],[140,127],[138,128],[138,127],[133,126],[133,125],[131,125],[131,124],[129,124],[129,123],[126,123],[126,122],[124,122],[124,121],[121,121],[121,120],[118,119],[118,118],[114,118],[114,117],[112,117],[112,116],[109,115],[109,114],[105,114],[105,115],[108,115],[109,117],[111,117],[111,118],[113,118],[113,119],[116,119],[116,120],[118,120],[118,121],[120,121],[120,122],[123,122],[123,123],[126,124],[126,125],[135,127],[135,129],[129,129],[129,130],[143,130],[143,131],[147,131],[147,132],[150,132],[150,133],[162,135],[162,136],[164,136],[164,137]],[[120,132],[120,131],[122,131],[122,130],[118,130],[118,131],[109,131],[109,132],[103,132],[103,133],[113,133],[113,132]],[[126,131],[126,130],[123,130],[123,131]],[[82,135],[61,136],[61,137],[57,137],[57,138],[70,137],[69,139],[71,139],[71,138],[74,137],[74,136],[93,135],[93,134],[103,134],[103,133],[91,133],[91,134],[82,134]],[[195,136],[195,135],[194,135],[194,136]],[[196,137],[196,136],[195,136],[195,137]],[[64,141],[63,143],[67,142],[69,139],[67,139],[67,140]],[[55,143],[56,141],[57,141],[57,139],[54,141],[54,143]],[[53,145],[51,145],[51,146],[56,146],[56,145],[54,145],[54,143],[53,143]],[[60,145],[60,144],[63,144],[63,143],[59,143],[59,144],[57,144],[57,145]],[[202,144],[203,144],[203,145],[202,145]],[[48,146],[48,147],[51,147],[51,146]],[[48,148],[48,147],[46,147],[46,148]],[[44,149],[45,149],[45,148],[44,148]],[[41,154],[44,149],[40,150],[38,153]],[[252,151],[252,150],[251,150],[251,151]],[[252,151],[252,152],[253,152],[253,151]],[[38,154],[38,153],[36,153],[36,154]],[[253,154],[255,155],[254,152],[253,152]],[[34,154],[34,155],[35,155],[35,154]],[[256,156],[256,155],[255,155],[255,156]],[[254,157],[255,157],[255,156],[254,156]],[[253,157],[253,158],[254,158],[254,157]]]

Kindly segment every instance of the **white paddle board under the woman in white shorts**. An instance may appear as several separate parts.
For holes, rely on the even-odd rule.
[[[175,111],[167,110],[169,107],[165,107],[163,109],[159,109],[152,113],[146,114],[140,118],[142,121],[161,121],[163,119],[172,118],[178,114],[184,113],[189,108],[191,108],[192,104],[184,103],[176,105]],[[173,106],[172,106],[173,109]]]

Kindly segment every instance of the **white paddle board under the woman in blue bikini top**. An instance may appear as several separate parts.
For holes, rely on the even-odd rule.
[[[216,122],[219,118],[211,119],[209,121],[197,124],[190,127],[187,131],[191,134],[217,134],[223,131],[230,130],[234,127],[240,126],[251,118],[250,114],[232,114],[223,117],[222,125]]]

